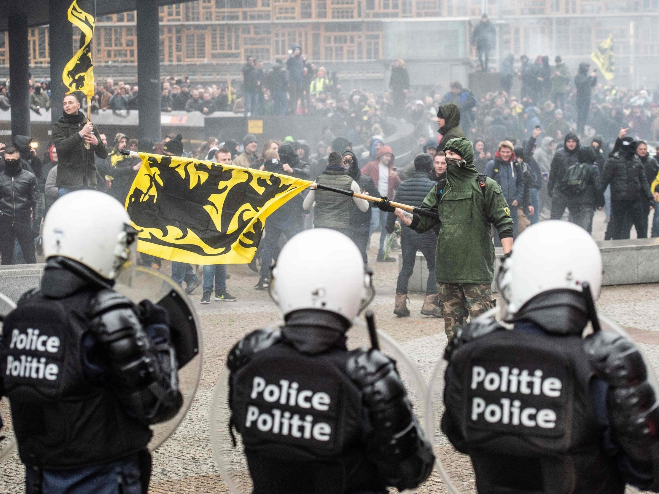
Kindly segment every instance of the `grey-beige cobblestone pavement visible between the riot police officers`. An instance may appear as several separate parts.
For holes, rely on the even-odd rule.
[[[374,259],[376,252],[370,253]],[[394,255],[397,251],[393,252]],[[169,270],[166,263],[165,272]],[[393,296],[397,275],[396,263],[374,263],[377,296],[372,303],[378,327],[405,348],[418,366],[426,382],[440,360],[446,337],[443,323],[433,317],[421,316],[422,294],[410,294],[412,315],[399,319],[393,315]],[[183,423],[153,456],[153,477],[150,493],[227,493],[229,492],[217,470],[210,445],[208,412],[215,384],[224,368],[225,358],[233,343],[244,333],[265,327],[277,321],[279,314],[267,292],[254,290],[258,280],[244,265],[232,265],[228,269],[231,279],[227,289],[238,297],[237,302],[212,302],[200,305],[201,287],[192,294],[192,300],[200,314],[204,333],[204,368],[199,389]],[[633,285],[606,287],[598,306],[603,314],[617,320],[650,358],[655,371],[659,371],[659,285]],[[353,331],[354,333],[354,331]],[[353,334],[352,339],[364,341],[363,333]],[[357,336],[357,337],[356,337]],[[353,342],[354,343],[354,342]],[[404,367],[404,366],[403,366]],[[403,370],[403,377],[410,385],[411,373]],[[416,411],[422,415],[422,403],[414,394]],[[433,400],[438,427],[441,400]],[[225,431],[224,431],[225,433]],[[239,470],[241,454],[234,450],[235,470]],[[471,464],[468,458],[455,453],[445,440],[438,437],[436,453],[445,464],[451,478],[464,492],[474,492]],[[0,494],[22,492],[23,468],[14,453],[2,465]],[[241,474],[238,472],[238,476]],[[244,475],[243,475],[244,480]],[[447,492],[436,472],[417,493]]]

